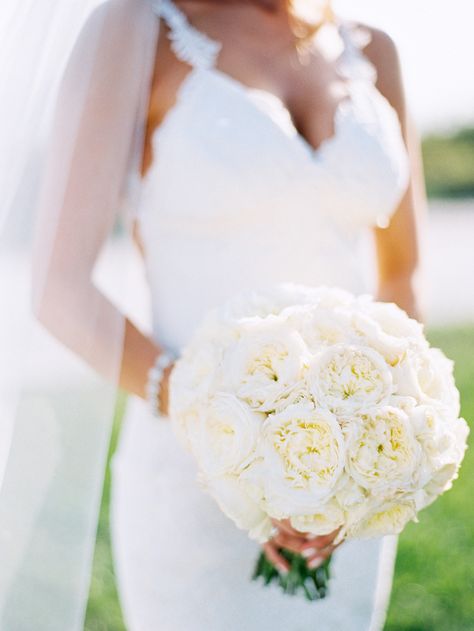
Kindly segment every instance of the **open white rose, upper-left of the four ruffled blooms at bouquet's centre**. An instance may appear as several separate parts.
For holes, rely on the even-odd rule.
[[[246,321],[240,339],[224,356],[222,384],[252,408],[272,411],[302,378],[306,358],[301,336],[284,318]]]

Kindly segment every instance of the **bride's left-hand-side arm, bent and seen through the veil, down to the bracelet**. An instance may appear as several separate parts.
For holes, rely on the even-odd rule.
[[[104,29],[115,37],[103,37]],[[140,63],[120,54],[120,42],[134,35],[140,33],[123,16],[99,7],[68,62],[38,209],[33,308],[90,366],[144,397],[148,370],[161,349],[92,280],[115,223],[134,139],[141,78],[132,64]]]

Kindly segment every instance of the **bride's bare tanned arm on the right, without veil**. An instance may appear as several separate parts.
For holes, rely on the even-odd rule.
[[[421,317],[417,276],[418,224],[426,198],[420,142],[408,116],[397,50],[383,32],[370,29],[372,41],[365,53],[377,69],[377,87],[398,113],[410,159],[410,183],[388,228],[375,229],[378,298],[395,302],[415,318]]]

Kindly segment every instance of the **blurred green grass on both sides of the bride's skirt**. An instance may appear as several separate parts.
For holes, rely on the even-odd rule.
[[[431,331],[430,340],[456,360],[463,415],[473,422],[474,328]],[[123,409],[124,399],[121,398],[111,451]],[[468,450],[461,477],[454,488],[421,514],[419,524],[410,524],[400,537],[385,631],[474,631],[473,478],[474,450]],[[86,631],[125,631],[113,579],[108,530],[109,498],[110,477],[107,474]]]

